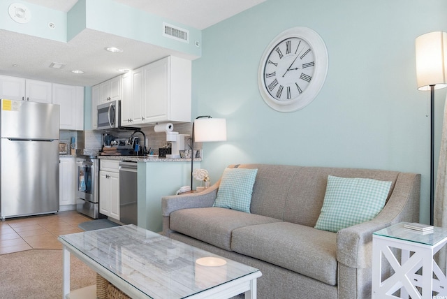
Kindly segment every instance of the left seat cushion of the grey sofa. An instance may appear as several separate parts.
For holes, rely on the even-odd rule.
[[[222,249],[231,250],[231,232],[235,228],[281,221],[257,214],[222,207],[202,207],[170,213],[170,229]]]

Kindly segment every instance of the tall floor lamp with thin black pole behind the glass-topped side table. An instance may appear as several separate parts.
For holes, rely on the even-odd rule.
[[[447,33],[436,31],[416,38],[419,90],[430,90],[430,225],[434,224],[434,89],[447,87]]]

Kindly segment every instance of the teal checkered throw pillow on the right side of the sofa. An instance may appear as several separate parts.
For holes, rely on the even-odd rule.
[[[336,233],[373,219],[383,209],[390,187],[391,182],[329,175],[315,228]]]

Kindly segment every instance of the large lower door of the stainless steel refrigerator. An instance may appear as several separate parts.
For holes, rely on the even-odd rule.
[[[0,218],[57,212],[59,140],[0,138],[0,150]]]

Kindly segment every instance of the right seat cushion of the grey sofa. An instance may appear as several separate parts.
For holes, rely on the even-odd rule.
[[[235,229],[231,249],[335,286],[336,238],[336,233],[281,221]]]

